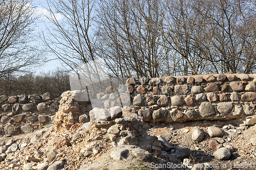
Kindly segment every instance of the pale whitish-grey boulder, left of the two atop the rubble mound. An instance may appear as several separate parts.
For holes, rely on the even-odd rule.
[[[101,109],[98,107],[93,108],[90,112],[90,121],[94,122],[97,120],[110,120],[111,114],[108,110]]]

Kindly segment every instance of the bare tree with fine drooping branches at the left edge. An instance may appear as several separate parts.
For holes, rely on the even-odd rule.
[[[0,3],[0,77],[12,72],[32,71],[44,62],[44,53],[33,33],[37,21],[33,2],[1,1]],[[29,67],[29,68],[28,68]]]

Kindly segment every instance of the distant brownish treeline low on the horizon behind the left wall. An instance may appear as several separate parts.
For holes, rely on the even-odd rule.
[[[23,76],[13,76],[8,74],[0,79],[1,95],[19,94],[44,94],[50,92],[60,95],[62,92],[70,90],[69,74],[65,70],[41,72],[39,75],[27,73]]]

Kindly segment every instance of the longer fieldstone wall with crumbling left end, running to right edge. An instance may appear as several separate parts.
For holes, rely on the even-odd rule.
[[[90,119],[97,122],[132,116],[145,122],[170,123],[242,118],[247,125],[254,125],[255,78],[246,74],[143,77],[127,79],[125,85],[108,87],[95,95],[68,91],[61,95],[54,122],[69,129]]]

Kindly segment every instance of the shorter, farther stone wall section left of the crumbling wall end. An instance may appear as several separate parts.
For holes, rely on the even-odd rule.
[[[41,125],[52,123],[61,97],[51,93],[0,96],[0,133],[17,135],[28,133]]]

